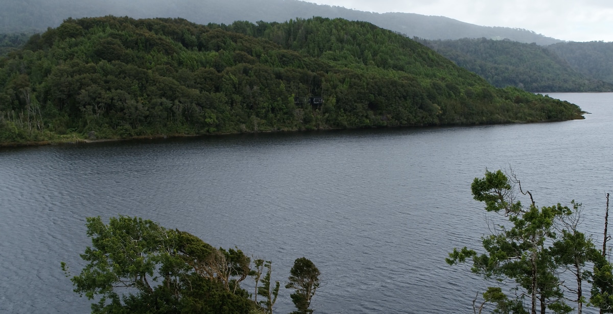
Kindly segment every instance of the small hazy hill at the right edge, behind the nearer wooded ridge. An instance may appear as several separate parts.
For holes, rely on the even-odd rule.
[[[613,83],[613,42],[563,42],[547,49],[585,76]]]

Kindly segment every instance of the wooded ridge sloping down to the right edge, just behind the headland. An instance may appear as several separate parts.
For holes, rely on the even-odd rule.
[[[422,42],[499,88],[516,86],[531,92],[613,91],[613,84],[580,71],[583,64],[573,69],[557,51],[535,44],[490,39]]]

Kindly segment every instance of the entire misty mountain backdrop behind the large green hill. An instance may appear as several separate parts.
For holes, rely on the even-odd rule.
[[[23,47],[23,40],[19,40],[23,36],[59,26],[70,17],[181,17],[200,24],[231,24],[237,20],[283,22],[295,18],[327,17],[368,21],[411,38],[445,40],[427,45],[497,87],[516,86],[533,92],[585,92],[611,91],[612,86],[602,81],[613,83],[613,67],[611,58],[608,58],[613,49],[607,43],[566,43],[526,29],[477,26],[446,17],[363,12],[299,0],[5,2],[0,12],[0,56]],[[511,40],[518,44],[505,50],[509,43],[484,43],[481,39]],[[547,51],[519,43],[536,43],[547,47]],[[471,48],[474,45],[480,47]],[[485,59],[484,49],[488,50]]]

